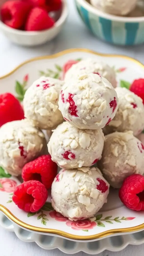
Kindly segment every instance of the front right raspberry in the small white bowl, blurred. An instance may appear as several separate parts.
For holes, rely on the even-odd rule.
[[[46,10],[40,7],[34,7],[27,18],[25,30],[27,31],[40,31],[53,27],[55,24]]]

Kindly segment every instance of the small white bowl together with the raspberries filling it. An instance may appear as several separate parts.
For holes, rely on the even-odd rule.
[[[4,0],[0,29],[18,45],[40,45],[57,36],[67,14],[66,0]]]

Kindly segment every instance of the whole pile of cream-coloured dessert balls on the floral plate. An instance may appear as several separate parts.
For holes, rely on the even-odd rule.
[[[24,97],[25,119],[0,129],[0,164],[12,175],[48,152],[61,168],[52,184],[52,206],[70,220],[93,217],[107,202],[109,186],[143,174],[144,129],[140,97],[116,88],[115,71],[96,59],[74,64],[65,81],[41,77]],[[105,136],[104,136],[105,134]]]

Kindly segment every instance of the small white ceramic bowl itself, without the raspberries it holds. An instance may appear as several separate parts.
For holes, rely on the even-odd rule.
[[[2,2],[6,2],[3,0]],[[1,3],[2,4],[2,3]],[[43,31],[23,31],[8,27],[0,20],[0,29],[4,35],[12,42],[23,46],[35,46],[44,44],[47,41],[52,40],[58,35],[63,27],[68,15],[67,1],[63,0],[63,6],[60,12],[56,13],[55,26]]]

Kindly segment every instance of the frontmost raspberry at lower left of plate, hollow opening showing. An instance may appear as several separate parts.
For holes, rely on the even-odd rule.
[[[29,180],[16,187],[12,200],[19,209],[37,212],[45,204],[48,192],[45,186],[36,180]]]

